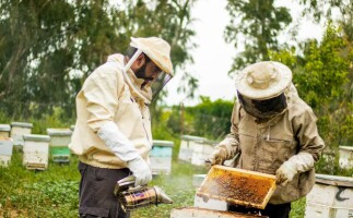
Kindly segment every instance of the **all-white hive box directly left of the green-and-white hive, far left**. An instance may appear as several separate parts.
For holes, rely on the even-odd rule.
[[[23,165],[27,169],[44,170],[48,167],[49,142],[48,135],[23,135]]]

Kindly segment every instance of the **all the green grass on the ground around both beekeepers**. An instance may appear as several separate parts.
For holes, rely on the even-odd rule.
[[[0,168],[0,217],[78,217],[79,181],[78,158],[69,165],[49,162],[45,171],[28,171],[22,166],[22,153],[14,152],[8,168]],[[167,193],[174,204],[134,210],[132,218],[165,218],[177,207],[192,206],[195,187],[192,174],[207,173],[204,168],[173,161],[169,175],[158,175],[151,185]],[[305,199],[293,203],[292,218],[303,218]]]

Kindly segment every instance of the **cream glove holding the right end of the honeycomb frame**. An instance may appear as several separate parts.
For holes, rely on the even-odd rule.
[[[299,153],[291,157],[275,172],[275,182],[280,185],[286,185],[293,180],[295,174],[305,172],[314,167],[313,155],[308,153]]]

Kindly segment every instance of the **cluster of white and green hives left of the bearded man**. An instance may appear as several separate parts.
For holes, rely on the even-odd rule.
[[[44,170],[48,167],[49,150],[55,162],[69,162],[72,131],[47,129],[47,135],[31,134],[32,123],[0,124],[0,164],[8,166],[13,148],[23,152],[23,165],[27,169]],[[71,126],[73,128],[73,126]]]

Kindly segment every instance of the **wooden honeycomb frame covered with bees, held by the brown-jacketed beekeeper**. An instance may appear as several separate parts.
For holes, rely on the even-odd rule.
[[[275,189],[275,177],[249,170],[213,166],[197,195],[263,209]]]

